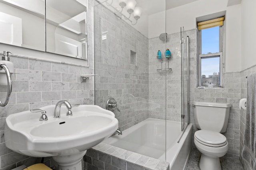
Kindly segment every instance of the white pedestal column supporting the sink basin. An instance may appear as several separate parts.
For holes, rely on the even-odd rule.
[[[70,155],[52,156],[58,164],[58,170],[82,170],[82,159],[86,150]]]

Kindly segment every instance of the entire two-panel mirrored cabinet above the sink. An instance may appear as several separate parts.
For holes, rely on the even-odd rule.
[[[86,0],[0,0],[0,43],[87,60]]]

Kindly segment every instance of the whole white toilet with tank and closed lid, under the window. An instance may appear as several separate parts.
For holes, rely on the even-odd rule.
[[[194,102],[194,119],[198,130],[194,134],[196,148],[202,153],[201,170],[221,170],[220,157],[228,152],[226,132],[231,104]]]

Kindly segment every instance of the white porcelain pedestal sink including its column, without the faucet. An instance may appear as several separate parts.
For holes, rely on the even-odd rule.
[[[6,118],[4,139],[9,149],[32,157],[52,158],[59,170],[82,170],[86,150],[110,137],[118,128],[114,113],[95,105],[60,109],[54,118],[55,105],[40,108],[46,111],[47,121],[39,121],[41,113],[23,111]]]

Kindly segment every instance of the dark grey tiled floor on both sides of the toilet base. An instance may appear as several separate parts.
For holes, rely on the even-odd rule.
[[[186,170],[200,170],[200,156],[201,153],[197,149],[192,149]],[[220,158],[220,164],[222,166],[222,170],[243,170],[239,160],[234,161],[233,158],[222,157]]]

